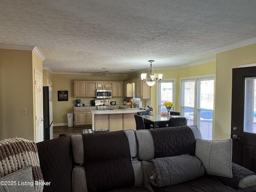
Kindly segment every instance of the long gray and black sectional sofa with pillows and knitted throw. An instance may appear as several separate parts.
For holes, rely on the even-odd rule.
[[[197,126],[8,139],[0,174],[0,192],[256,191],[256,174],[232,163],[232,140],[202,140]]]

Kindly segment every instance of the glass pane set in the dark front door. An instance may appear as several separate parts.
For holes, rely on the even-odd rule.
[[[245,78],[244,89],[244,132],[256,134],[256,78]]]

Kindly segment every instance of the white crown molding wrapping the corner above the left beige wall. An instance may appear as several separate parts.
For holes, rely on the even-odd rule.
[[[39,49],[36,46],[32,46],[32,45],[13,45],[13,44],[1,44],[0,43],[0,49],[33,51],[42,61],[46,60],[46,58],[39,51]]]

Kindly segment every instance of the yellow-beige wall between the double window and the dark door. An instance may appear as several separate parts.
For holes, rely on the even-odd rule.
[[[214,139],[230,138],[232,68],[256,63],[256,44],[216,54]]]

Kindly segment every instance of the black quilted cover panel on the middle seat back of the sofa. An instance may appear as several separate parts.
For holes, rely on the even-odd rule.
[[[124,131],[82,134],[89,192],[134,186],[128,138]]]

